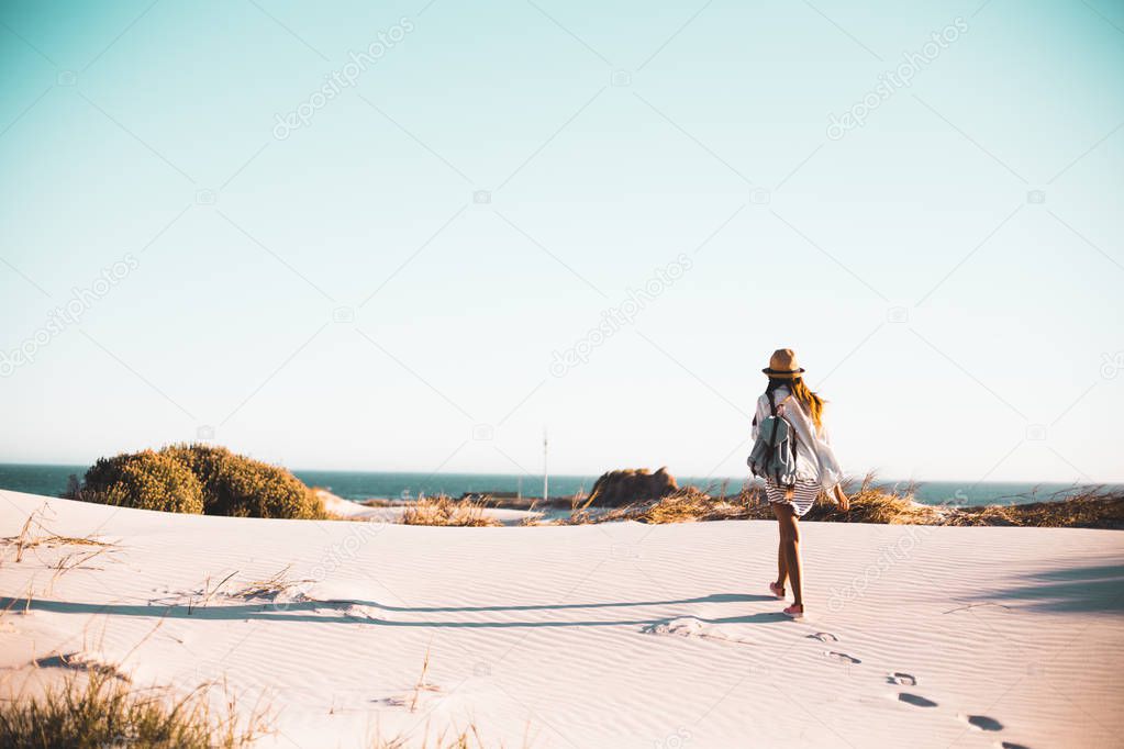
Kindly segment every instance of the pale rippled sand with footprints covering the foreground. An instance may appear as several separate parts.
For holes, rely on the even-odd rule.
[[[0,536],[44,506],[51,531],[119,546],[60,576],[60,558],[94,549],[38,547],[17,564],[4,547],[0,594],[34,594],[28,613],[18,602],[0,618],[6,681],[75,652],[136,685],[225,675],[277,710],[264,745],[355,747],[375,727],[420,739],[472,721],[516,748],[527,727],[534,747],[582,749],[1124,736],[1117,531],[806,523],[815,618],[792,622],[761,595],[770,522],[446,529],[0,492]],[[282,570],[315,582],[280,603],[232,595]],[[427,650],[434,688],[411,712]]]

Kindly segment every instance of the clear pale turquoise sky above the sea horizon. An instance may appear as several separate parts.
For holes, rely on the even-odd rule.
[[[0,6],[0,462],[1124,481],[1120,3],[426,2]]]

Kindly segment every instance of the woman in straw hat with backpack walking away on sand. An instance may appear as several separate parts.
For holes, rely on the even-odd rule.
[[[765,479],[765,496],[780,529],[777,582],[769,583],[769,590],[783,600],[785,582],[790,582],[794,603],[785,613],[803,619],[799,518],[821,492],[844,511],[850,501],[840,486],[843,472],[827,441],[824,400],[804,384],[796,354],[790,348],[778,349],[762,372],[769,376],[769,385],[758,399],[749,464],[754,475]]]

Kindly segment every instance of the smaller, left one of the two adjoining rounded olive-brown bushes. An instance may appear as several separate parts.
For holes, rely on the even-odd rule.
[[[203,511],[202,486],[172,456],[145,450],[100,458],[85,472],[81,499],[140,510]]]

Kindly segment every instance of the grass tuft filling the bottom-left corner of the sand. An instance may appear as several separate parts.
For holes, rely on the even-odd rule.
[[[75,674],[35,697],[0,701],[0,746],[8,749],[235,749],[264,733],[265,716],[239,718],[227,693],[224,713],[207,693],[134,689],[98,669]]]

